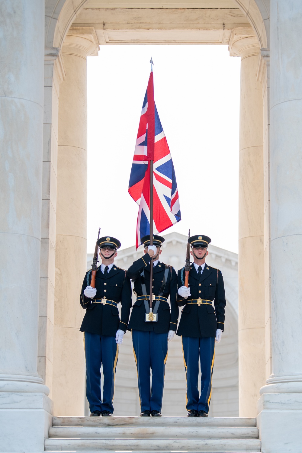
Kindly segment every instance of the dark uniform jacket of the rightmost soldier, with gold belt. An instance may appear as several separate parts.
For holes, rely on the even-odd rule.
[[[183,286],[181,272],[177,273],[177,286]],[[218,282],[217,282],[218,277]],[[183,276],[184,279],[184,276]],[[177,294],[177,303],[182,308],[182,315],[177,335],[184,337],[215,337],[216,329],[224,330],[225,323],[225,286],[221,271],[206,264],[199,279],[195,266],[190,267],[189,288],[191,296],[184,299]],[[214,300],[210,304],[190,304],[191,299]]]

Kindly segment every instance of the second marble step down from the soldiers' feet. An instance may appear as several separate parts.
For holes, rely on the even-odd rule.
[[[258,439],[258,437],[258,428],[246,427],[53,426],[49,429],[51,439]]]

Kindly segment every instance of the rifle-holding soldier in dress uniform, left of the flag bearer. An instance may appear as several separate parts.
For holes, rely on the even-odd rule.
[[[115,370],[119,355],[119,344],[126,332],[131,300],[131,283],[126,271],[114,265],[120,241],[104,236],[97,241],[100,247],[101,266],[96,271],[96,287],[92,288],[91,270],[84,278],[80,304],[86,309],[81,324],[84,332],[86,357],[86,396],[90,416],[111,416]],[[121,317],[117,305],[121,303]],[[103,365],[104,387],[101,397],[101,365]]]

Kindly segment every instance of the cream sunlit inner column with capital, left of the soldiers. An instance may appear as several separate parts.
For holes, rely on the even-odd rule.
[[[86,273],[87,76],[86,57],[98,54],[91,27],[72,27],[62,47],[66,79],[60,87],[53,401],[56,415],[83,415],[84,312],[79,303]]]

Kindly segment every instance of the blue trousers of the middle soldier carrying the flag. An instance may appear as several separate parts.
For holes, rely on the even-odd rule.
[[[168,333],[132,330],[134,359],[137,366],[140,410],[162,409]],[[152,370],[152,386],[150,383]]]

